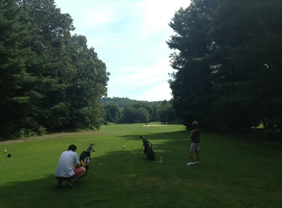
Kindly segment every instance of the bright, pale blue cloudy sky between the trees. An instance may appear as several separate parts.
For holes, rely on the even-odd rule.
[[[106,64],[109,98],[137,101],[171,99],[168,73],[173,50],[165,41],[173,35],[168,23],[190,0],[55,0],[61,13],[70,14]]]

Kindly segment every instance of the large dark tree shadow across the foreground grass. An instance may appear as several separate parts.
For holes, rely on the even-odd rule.
[[[278,167],[279,170],[281,168],[273,161],[271,165],[264,163],[261,166],[264,157],[259,155],[260,149],[255,149],[260,147],[267,151],[270,147],[244,147],[238,144],[232,146],[233,149],[227,149],[228,142],[224,142],[224,139],[203,135],[204,165],[187,167],[190,144],[187,131],[144,134],[153,144],[155,161],[146,158],[139,136],[118,136],[121,141],[139,142],[139,148],[119,149],[98,157],[93,154],[88,176],[80,179],[75,189],[66,186],[66,182],[63,182],[63,188],[58,189],[54,173],[47,173],[36,180],[6,182],[0,186],[0,208],[186,208],[187,205],[209,208],[224,205],[232,208],[280,205],[277,200],[281,186],[279,182],[273,183],[279,178],[270,166]],[[236,141],[236,138],[231,140]],[[241,138],[240,142],[242,141]],[[246,144],[248,143],[247,141]],[[247,151],[252,151],[251,148],[254,156],[245,156],[244,164],[234,160],[242,155],[243,150],[248,154]],[[163,164],[156,163],[160,156]],[[215,159],[222,157],[220,163],[215,162]],[[281,158],[280,155],[277,157]],[[271,190],[268,188],[269,184],[272,184]],[[268,194],[268,198],[256,202],[250,200],[246,193],[251,193],[256,199]]]

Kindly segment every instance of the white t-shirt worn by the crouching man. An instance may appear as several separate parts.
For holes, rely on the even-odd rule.
[[[74,174],[73,167],[79,164],[78,154],[71,150],[64,151],[59,159],[55,172],[56,177],[70,177]]]

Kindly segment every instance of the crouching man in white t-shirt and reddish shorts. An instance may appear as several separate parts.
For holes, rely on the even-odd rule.
[[[74,182],[75,180],[81,178],[86,169],[81,167],[78,154],[75,152],[76,146],[71,144],[68,147],[68,151],[64,151],[59,159],[58,166],[55,172],[55,177],[58,181],[58,188],[63,187],[62,181],[67,180],[67,185],[75,188]],[[76,169],[73,170],[73,167]]]

